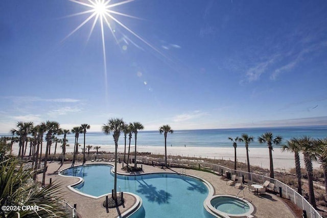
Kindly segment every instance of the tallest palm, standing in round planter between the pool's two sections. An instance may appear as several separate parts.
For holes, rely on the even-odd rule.
[[[123,119],[120,118],[111,118],[108,120],[108,123],[104,126],[102,126],[102,131],[109,135],[110,131],[113,131],[113,140],[115,145],[115,151],[114,151],[114,186],[113,186],[113,199],[117,200],[117,150],[118,150],[118,140],[119,136],[121,134],[121,131],[123,130],[125,124]]]

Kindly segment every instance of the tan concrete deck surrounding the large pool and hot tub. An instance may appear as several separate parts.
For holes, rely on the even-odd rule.
[[[86,161],[86,164],[101,164],[101,163],[111,163],[113,162],[91,162]],[[81,163],[75,164],[75,166],[81,165]],[[120,214],[123,214],[128,209],[130,209],[135,203],[135,197],[131,195],[125,195],[124,199],[125,204],[124,206],[116,208],[109,208],[109,212],[107,213],[107,209],[102,206],[102,203],[105,201],[105,197],[94,199],[89,198],[83,195],[80,195],[77,192],[70,190],[67,186],[74,184],[79,181],[78,178],[72,177],[62,177],[55,173],[60,166],[60,162],[52,161],[48,164],[48,171],[46,172],[46,180],[45,183],[48,184],[50,178],[52,178],[52,182],[60,182],[61,183],[61,190],[64,192],[63,199],[68,201],[70,205],[77,204],[77,212],[81,217],[118,217]],[[68,168],[71,166],[71,163],[65,163],[60,169]],[[126,173],[121,170],[122,164],[118,163],[118,172]],[[143,171],[144,173],[153,173],[153,172],[180,172],[181,168],[171,168],[171,169],[162,169],[160,166],[150,166],[143,164]],[[196,171],[194,169],[186,169],[186,174],[194,175],[197,177],[201,177],[204,180],[208,181],[214,187],[214,195],[218,194],[226,194],[229,195],[237,195],[240,189],[235,188],[234,186],[229,186],[226,184],[226,181],[222,179],[221,176],[217,176],[212,173]],[[42,175],[38,175],[38,180],[42,179]],[[244,192],[243,192],[244,191]],[[295,217],[286,206],[286,204],[277,196],[266,193],[263,197],[255,196],[253,193],[248,191],[248,188],[244,188],[240,193],[239,196],[243,196],[248,200],[252,201],[254,206],[254,215],[255,217]],[[111,196],[111,195],[110,195]]]

